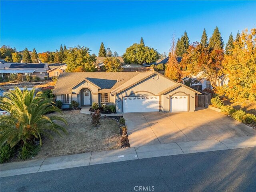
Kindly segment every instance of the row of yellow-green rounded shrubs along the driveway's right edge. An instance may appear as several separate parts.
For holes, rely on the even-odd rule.
[[[254,114],[246,114],[243,110],[236,110],[232,106],[221,106],[221,112],[230,115],[232,118],[248,124],[256,124],[256,116]]]

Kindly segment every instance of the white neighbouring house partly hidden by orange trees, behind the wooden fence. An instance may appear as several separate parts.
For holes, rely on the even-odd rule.
[[[192,87],[198,88],[198,90],[204,90],[204,89],[212,89],[211,82],[208,78],[203,76],[203,73],[200,72],[197,75],[190,74],[189,76],[186,76],[182,78],[183,83],[186,81],[192,79],[194,83],[192,83]],[[228,75],[223,75],[219,78],[219,80],[216,82],[217,86],[223,86],[224,84],[228,85]],[[220,85],[219,85],[220,84]]]

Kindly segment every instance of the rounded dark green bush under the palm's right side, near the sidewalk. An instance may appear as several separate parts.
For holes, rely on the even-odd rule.
[[[36,156],[40,151],[40,145],[36,145],[34,142],[30,141],[22,146],[22,150],[19,152],[19,158],[27,159]]]

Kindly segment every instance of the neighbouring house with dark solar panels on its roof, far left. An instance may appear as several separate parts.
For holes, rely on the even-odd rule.
[[[41,79],[47,76],[48,64],[44,63],[0,63],[0,74],[4,76],[18,75],[36,75]]]

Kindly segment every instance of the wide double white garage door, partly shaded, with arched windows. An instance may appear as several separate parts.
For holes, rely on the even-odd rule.
[[[124,113],[159,111],[159,97],[124,97]]]

